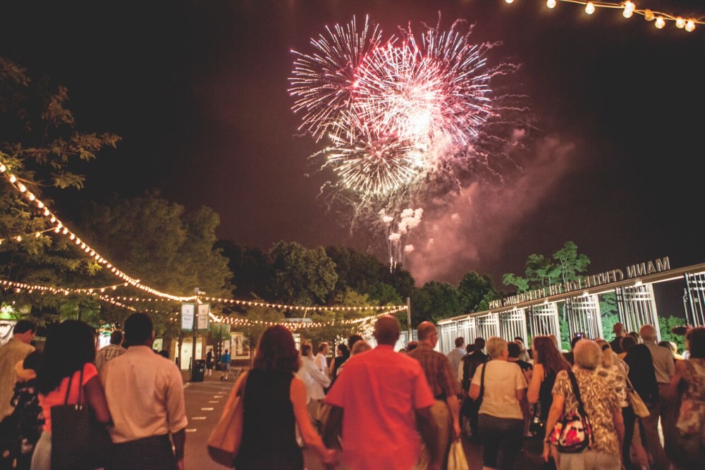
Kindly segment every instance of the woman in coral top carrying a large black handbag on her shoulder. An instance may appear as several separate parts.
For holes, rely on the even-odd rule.
[[[70,467],[69,464],[59,462],[61,457],[66,457],[66,452],[62,452],[68,450],[66,446],[85,448],[87,441],[73,435],[74,432],[80,431],[76,428],[57,427],[54,432],[51,428],[52,408],[70,404],[74,405],[72,409],[90,410],[94,419],[104,426],[102,433],[91,432],[91,437],[98,434],[107,436],[105,426],[111,421],[110,412],[98,371],[93,364],[94,359],[94,330],[87,323],[66,320],[51,328],[37,367],[39,404],[44,411],[45,421],[42,435],[32,455],[32,470],[91,470],[102,466],[99,462],[90,462],[90,458],[83,458],[80,463],[72,462]],[[75,406],[80,403],[85,403],[86,406]],[[107,438],[109,440],[109,437]],[[104,441],[103,444],[109,445],[109,441]],[[55,448],[52,449],[53,446]],[[95,450],[105,452],[105,449]],[[96,452],[95,457],[99,457],[98,454],[99,452]],[[69,457],[78,459],[90,455]]]

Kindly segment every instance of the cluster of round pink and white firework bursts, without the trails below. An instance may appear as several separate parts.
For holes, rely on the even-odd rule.
[[[378,27],[355,18],[312,39],[297,54],[293,110],[318,141],[344,187],[384,195],[442,168],[439,149],[470,144],[490,112],[482,49],[455,30],[410,30],[383,42]],[[364,197],[364,196],[363,196]]]

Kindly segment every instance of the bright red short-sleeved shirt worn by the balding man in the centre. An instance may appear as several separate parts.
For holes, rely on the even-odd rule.
[[[434,397],[418,361],[378,345],[351,357],[326,396],[343,408],[343,459],[353,469],[410,469],[419,457],[414,412]]]

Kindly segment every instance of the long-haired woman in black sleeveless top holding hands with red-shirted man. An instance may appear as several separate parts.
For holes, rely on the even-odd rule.
[[[306,387],[295,377],[299,352],[291,332],[281,325],[262,334],[255,361],[235,383],[233,393],[243,392],[243,440],[235,468],[238,470],[302,470],[303,452],[296,439],[298,427],[305,445],[326,464],[336,462],[314,430],[306,408]]]

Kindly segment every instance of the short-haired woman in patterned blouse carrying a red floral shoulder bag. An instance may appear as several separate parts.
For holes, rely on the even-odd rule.
[[[589,447],[575,454],[558,452],[559,469],[620,470],[621,443],[624,422],[620,400],[611,383],[599,373],[603,354],[600,346],[591,340],[580,340],[573,350],[575,374],[580,397],[589,416],[593,439]],[[546,441],[561,414],[577,412],[578,404],[567,371],[560,371],[553,385],[553,404],[548,411]],[[544,443],[544,459],[548,459],[550,446]]]

